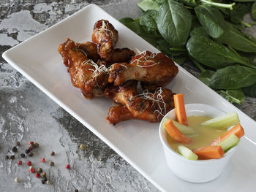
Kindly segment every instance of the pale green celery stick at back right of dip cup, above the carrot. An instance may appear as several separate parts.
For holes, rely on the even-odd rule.
[[[201,126],[207,126],[211,128],[229,128],[230,126],[234,126],[238,123],[240,123],[240,120],[237,113],[230,112],[218,118],[207,120],[206,122],[201,123]]]

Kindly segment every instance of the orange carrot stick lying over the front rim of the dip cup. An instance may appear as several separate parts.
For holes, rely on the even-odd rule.
[[[224,151],[220,146],[206,146],[200,147],[193,152],[198,156],[198,159],[211,159],[211,158],[222,158]]]

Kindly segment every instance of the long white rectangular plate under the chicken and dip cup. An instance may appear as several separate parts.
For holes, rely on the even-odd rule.
[[[97,13],[97,14],[96,14]],[[241,140],[225,172],[209,183],[187,183],[174,176],[165,164],[158,136],[159,123],[128,120],[112,126],[105,119],[112,101],[84,99],[70,81],[57,47],[67,37],[75,42],[91,41],[94,23],[109,20],[118,30],[116,47],[159,52],[107,12],[91,4],[69,18],[25,42],[7,50],[3,57],[34,85],[78,119],[161,191],[254,191],[256,178],[256,122],[179,67],[176,79],[168,85],[175,93],[184,93],[186,103],[210,104],[225,112],[238,112],[246,137]]]

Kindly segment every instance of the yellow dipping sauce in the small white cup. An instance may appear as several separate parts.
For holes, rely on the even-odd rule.
[[[210,120],[211,118],[204,117],[204,116],[190,116],[187,117],[187,121],[191,128],[194,128],[197,131],[197,135],[191,137],[192,143],[189,145],[183,144],[181,142],[176,142],[173,138],[167,134],[167,142],[169,143],[170,147],[173,150],[177,149],[178,145],[184,145],[188,147],[190,150],[195,150],[199,147],[205,147],[211,145],[211,142],[214,139],[217,139],[219,136],[224,134],[227,130],[226,129],[216,129],[216,128],[207,128],[200,126],[201,123],[206,122],[206,120]],[[188,136],[189,137],[189,136]]]

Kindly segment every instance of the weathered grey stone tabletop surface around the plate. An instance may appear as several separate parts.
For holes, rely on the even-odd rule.
[[[94,3],[115,18],[138,18],[138,1],[0,1],[0,53],[34,34],[67,18],[86,4]],[[249,20],[249,17],[245,18]],[[255,33],[256,28],[249,29]],[[184,67],[197,76],[194,66]],[[238,105],[256,120],[256,99],[246,98]],[[18,154],[23,153],[29,141],[39,142],[31,160],[42,167],[53,185],[42,185],[29,173],[26,165],[18,166]],[[21,141],[14,161],[5,160],[11,148]],[[87,146],[85,152],[78,145]],[[50,156],[50,151],[55,156]],[[56,166],[50,167],[39,160],[45,157]],[[70,164],[69,171],[64,168]],[[15,177],[20,183],[15,183]],[[94,136],[78,120],[39,91],[29,80],[0,58],[0,191],[157,191],[123,158]]]

